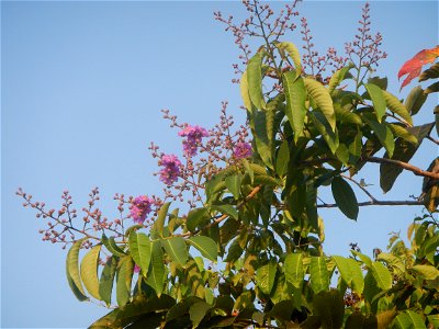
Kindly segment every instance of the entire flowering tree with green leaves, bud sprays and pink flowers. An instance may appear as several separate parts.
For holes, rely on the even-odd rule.
[[[187,139],[185,163],[150,147],[168,185],[165,198],[116,195],[121,218],[110,223],[93,208],[99,200],[93,190],[82,229],[74,226],[68,192],[56,215],[19,191],[26,205],[54,220],[46,240],[71,243],[66,272],[78,299],[111,306],[115,297],[115,309],[90,328],[438,328],[439,160],[427,170],[408,163],[425,139],[438,144],[430,136],[435,123],[413,124],[429,90],[416,87],[402,102],[386,91],[385,78],[367,76],[385,57],[379,50],[381,35],[368,36],[368,5],[359,39],[347,45],[352,61],[336,60],[335,67],[344,66],[326,78],[318,76],[325,64],[312,60],[306,21],[308,53],[302,61],[297,47],[280,39],[285,27],[268,25],[269,7],[245,5],[252,16],[240,27],[216,18],[235,27],[248,57],[240,91],[250,139],[246,127],[235,135],[221,127],[207,132],[179,125],[166,112]],[[288,7],[288,18],[293,8]],[[252,25],[263,44],[250,57],[243,39]],[[437,78],[437,64],[420,77]],[[228,131],[230,121],[223,104],[221,126]],[[227,156],[218,152],[221,146]],[[209,157],[195,158],[198,151]],[[424,177],[421,196],[376,200],[356,180],[367,162],[381,164],[384,192],[404,170]],[[335,204],[317,196],[328,185]],[[352,185],[370,201],[358,202]],[[182,200],[188,190],[198,197],[189,202],[189,213],[180,214],[170,201]],[[386,204],[426,205],[426,215],[408,228],[409,246],[395,235],[389,251],[376,249],[373,259],[354,247],[351,257],[324,253],[319,208],[339,207],[356,220],[360,206]],[[136,225],[126,228],[131,218]],[[93,228],[86,229],[90,220]],[[56,226],[83,238],[66,240]],[[79,260],[81,248],[89,250]]]

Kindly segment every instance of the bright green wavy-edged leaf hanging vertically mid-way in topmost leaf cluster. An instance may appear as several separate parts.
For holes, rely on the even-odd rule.
[[[296,79],[294,71],[282,75],[283,88],[286,98],[285,114],[294,132],[294,139],[303,134],[303,124],[306,116],[306,89],[302,78]]]

